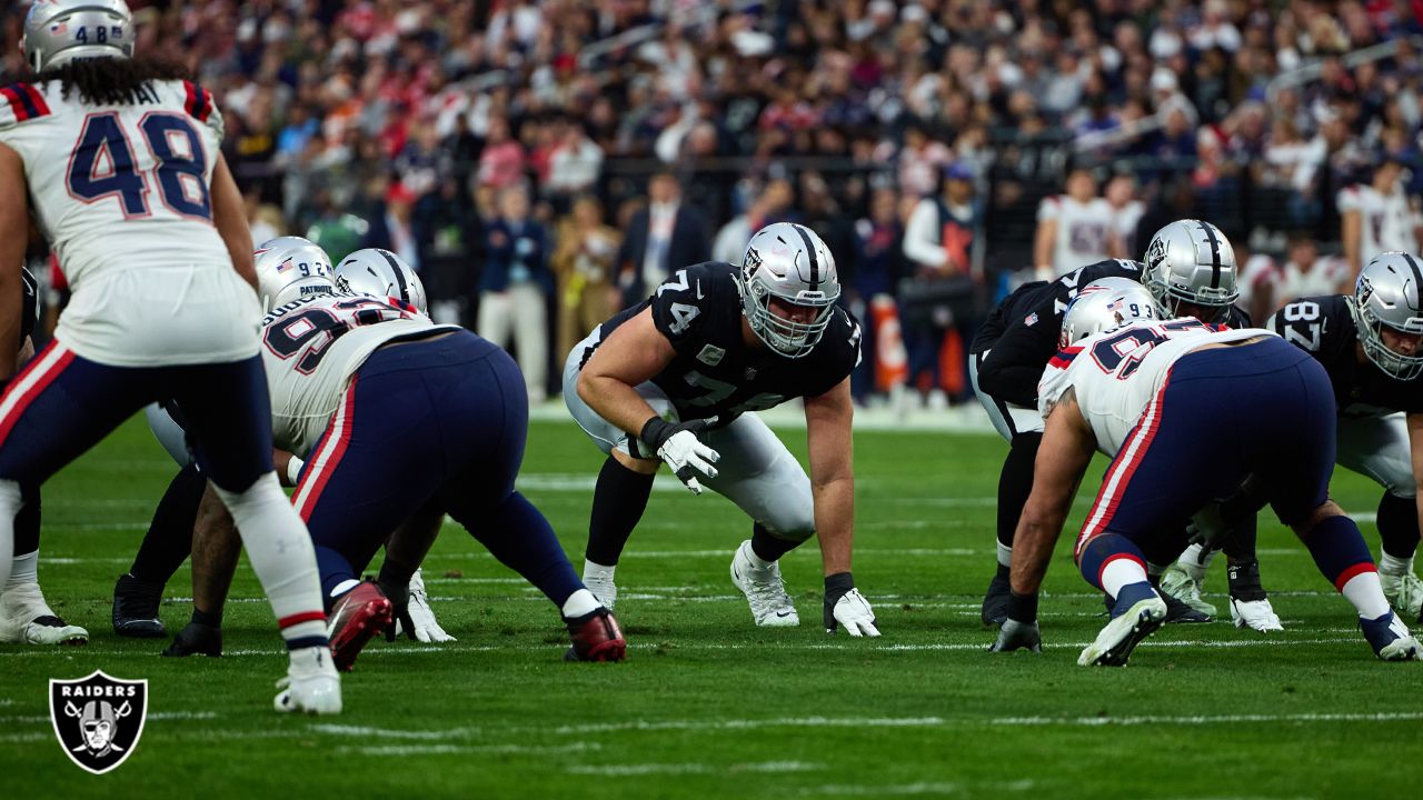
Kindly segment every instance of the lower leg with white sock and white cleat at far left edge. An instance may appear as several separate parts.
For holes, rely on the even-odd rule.
[[[88,631],[60,618],[40,591],[40,487],[23,484],[20,495],[24,505],[14,520],[14,565],[0,585],[0,642],[83,645]]]

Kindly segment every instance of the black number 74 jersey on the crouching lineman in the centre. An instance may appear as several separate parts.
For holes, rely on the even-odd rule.
[[[599,332],[599,342],[652,307],[652,322],[672,342],[676,357],[652,381],[683,420],[717,417],[724,424],[744,411],[780,406],[791,397],[830,391],[859,363],[859,323],[837,307],[810,354],[788,359],[741,339],[737,268],[706,262],[679,269],[652,298],[626,309]],[[583,354],[583,362],[592,352]]]

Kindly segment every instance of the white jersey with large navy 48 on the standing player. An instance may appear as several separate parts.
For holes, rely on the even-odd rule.
[[[151,81],[92,105],[60,81],[0,88],[0,144],[74,298],[55,337],[112,366],[223,363],[258,352],[256,293],[212,223],[222,115],[206,90]]]

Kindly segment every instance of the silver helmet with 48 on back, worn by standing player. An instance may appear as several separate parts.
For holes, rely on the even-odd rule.
[[[20,50],[43,73],[74,58],[132,58],[135,33],[124,0],[34,0]]]

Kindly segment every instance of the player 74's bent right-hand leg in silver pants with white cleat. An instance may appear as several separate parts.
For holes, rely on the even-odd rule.
[[[751,538],[731,558],[731,582],[746,595],[757,625],[800,625],[781,579],[780,558],[815,535],[810,477],[754,414],[707,431],[704,441],[721,460],[717,477],[702,483],[753,520]]]

